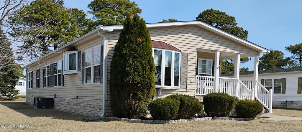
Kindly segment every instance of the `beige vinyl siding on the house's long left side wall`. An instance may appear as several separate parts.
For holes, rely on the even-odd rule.
[[[99,46],[103,44],[103,37],[96,37],[94,39],[90,39],[89,41],[83,42],[76,46],[78,50],[81,51],[81,63],[80,69],[77,74],[68,74],[62,75],[64,76],[64,86],[57,87],[43,87],[43,66],[46,64],[53,64],[56,61],[63,60],[63,53],[57,53],[55,57],[44,58],[39,64],[34,65],[28,69],[39,69],[40,72],[40,88],[36,88],[36,71],[34,71],[34,88],[27,90],[27,96],[34,97],[53,97],[53,94],[56,94],[58,98],[76,98],[78,99],[102,99],[102,83],[97,84],[82,84],[82,53],[85,52],[86,49],[90,49],[95,46]],[[73,46],[72,46],[73,47]],[[68,50],[68,48],[66,48]],[[64,62],[65,63],[65,62]],[[52,74],[53,75],[53,74]],[[53,80],[53,77],[52,77]]]

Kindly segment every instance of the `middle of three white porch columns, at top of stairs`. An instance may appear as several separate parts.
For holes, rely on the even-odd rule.
[[[239,72],[240,72],[240,54],[236,53],[235,56],[235,63],[234,63],[234,78],[236,78],[235,81],[235,95],[238,96],[239,93]]]

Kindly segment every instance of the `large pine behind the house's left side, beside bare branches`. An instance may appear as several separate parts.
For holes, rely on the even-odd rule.
[[[26,54],[31,58],[39,58],[87,33],[85,29],[89,19],[87,14],[77,8],[65,8],[61,0],[35,0],[24,5],[18,14],[9,17],[13,26],[14,37],[31,37],[24,41],[22,49],[37,47]],[[26,27],[37,27],[36,30],[24,30]],[[35,36],[34,34],[40,34]]]

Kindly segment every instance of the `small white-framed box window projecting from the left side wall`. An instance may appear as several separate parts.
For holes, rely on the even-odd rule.
[[[74,74],[78,73],[78,52],[67,51],[63,53],[64,72],[63,74]]]

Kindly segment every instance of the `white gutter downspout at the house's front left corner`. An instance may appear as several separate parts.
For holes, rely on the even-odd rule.
[[[106,36],[104,36],[103,34],[100,33],[100,31],[98,31],[98,35],[99,36],[102,36],[104,38],[104,42],[103,42],[103,51],[104,51],[104,54],[103,54],[103,113],[102,115],[100,115],[100,117],[104,117],[105,115],[105,70],[106,70],[106,67],[105,67],[105,64],[106,64]]]

